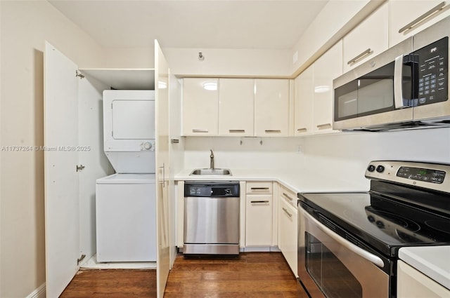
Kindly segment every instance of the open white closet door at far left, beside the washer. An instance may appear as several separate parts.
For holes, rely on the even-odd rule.
[[[44,168],[46,294],[58,297],[79,269],[77,65],[46,43]],[[75,149],[74,149],[75,148]]]

